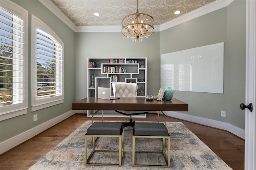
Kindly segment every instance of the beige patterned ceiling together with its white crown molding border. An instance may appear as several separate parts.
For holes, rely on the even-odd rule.
[[[122,18],[137,11],[137,0],[39,1],[76,32],[120,31]],[[161,31],[174,26],[173,23],[168,25],[172,21],[178,21],[177,25],[228,6],[232,1],[139,0],[138,11],[152,16],[155,21],[155,31]],[[181,13],[175,15],[176,10],[180,10]],[[94,12],[98,12],[100,16],[94,16]]]

